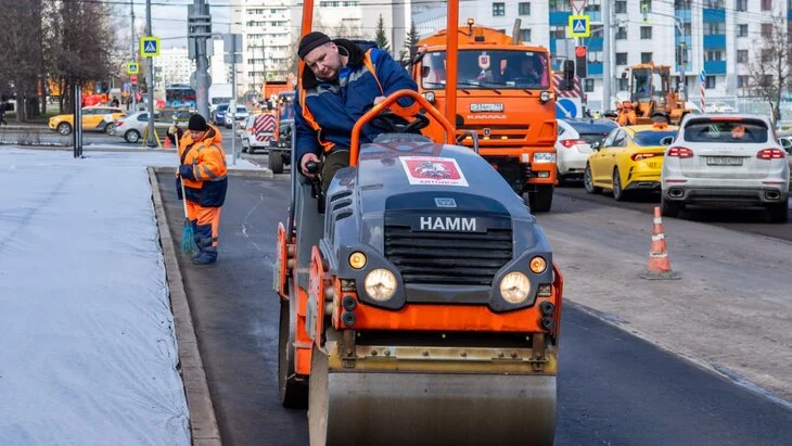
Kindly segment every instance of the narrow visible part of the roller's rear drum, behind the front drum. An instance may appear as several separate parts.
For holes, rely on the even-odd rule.
[[[281,301],[281,315],[278,328],[278,396],[281,405],[290,409],[308,407],[308,385],[297,381],[294,371],[294,331],[292,315],[296,315],[296,297],[289,284],[289,301]]]

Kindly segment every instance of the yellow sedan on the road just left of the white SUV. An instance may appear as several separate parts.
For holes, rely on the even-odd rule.
[[[583,173],[586,192],[611,189],[623,201],[631,191],[660,191],[663,154],[677,130],[664,123],[613,129],[604,141],[591,144],[595,153]]]

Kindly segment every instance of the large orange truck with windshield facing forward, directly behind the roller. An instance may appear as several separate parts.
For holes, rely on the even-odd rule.
[[[456,133],[473,146],[534,212],[550,211],[555,184],[555,94],[550,53],[522,44],[496,29],[460,27]],[[419,91],[435,107],[445,107],[446,30],[418,42],[411,73]],[[439,137],[430,126],[424,135]]]

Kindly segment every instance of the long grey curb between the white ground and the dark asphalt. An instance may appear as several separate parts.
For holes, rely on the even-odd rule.
[[[174,240],[170,237],[168,219],[165,215],[163,199],[159,194],[159,182],[156,169],[149,167],[152,201],[156,214],[159,243],[163,249],[163,260],[170,290],[170,307],[176,324],[176,340],[179,348],[179,371],[184,384],[187,407],[190,412],[190,434],[193,445],[221,446],[220,431],[217,426],[215,409],[212,405],[209,385],[206,381],[204,365],[197,348],[195,329],[192,324],[190,303],[184,292],[184,282],[179,270]],[[173,171],[173,169],[168,169]]]

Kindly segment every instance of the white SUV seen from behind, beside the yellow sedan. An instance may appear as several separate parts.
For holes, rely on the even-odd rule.
[[[661,183],[666,216],[692,204],[762,206],[774,222],[789,218],[790,166],[766,116],[686,116],[665,151]]]

